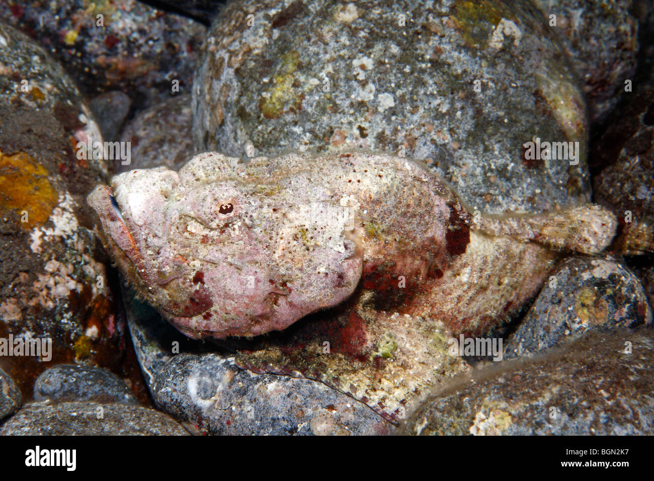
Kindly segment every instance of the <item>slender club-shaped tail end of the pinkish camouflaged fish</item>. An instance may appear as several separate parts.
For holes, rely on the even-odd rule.
[[[584,254],[606,249],[617,228],[615,215],[594,204],[539,215],[477,217],[473,223],[481,232],[493,236],[509,236]]]

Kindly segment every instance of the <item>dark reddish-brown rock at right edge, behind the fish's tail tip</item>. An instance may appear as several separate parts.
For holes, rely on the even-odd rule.
[[[595,199],[621,224],[613,249],[654,252],[654,89],[634,98],[595,150],[604,166],[593,180]]]

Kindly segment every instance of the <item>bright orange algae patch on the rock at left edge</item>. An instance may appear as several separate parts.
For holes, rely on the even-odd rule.
[[[0,211],[16,211],[21,220],[27,220],[21,223],[24,230],[44,224],[59,202],[49,174],[24,152],[0,152]]]

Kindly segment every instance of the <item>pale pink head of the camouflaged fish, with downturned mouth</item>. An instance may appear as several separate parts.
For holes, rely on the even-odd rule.
[[[88,203],[124,276],[177,329],[255,336],[339,304],[361,277],[353,214],[311,188],[210,152],[179,173],[116,175]]]

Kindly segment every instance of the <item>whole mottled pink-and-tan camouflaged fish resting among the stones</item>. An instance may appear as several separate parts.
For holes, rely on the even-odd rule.
[[[209,152],[179,173],[117,175],[88,202],[122,272],[181,332],[245,338],[242,366],[320,380],[391,420],[466,369],[447,338],[485,334],[562,253],[599,252],[616,228],[596,205],[486,216],[386,154]]]

